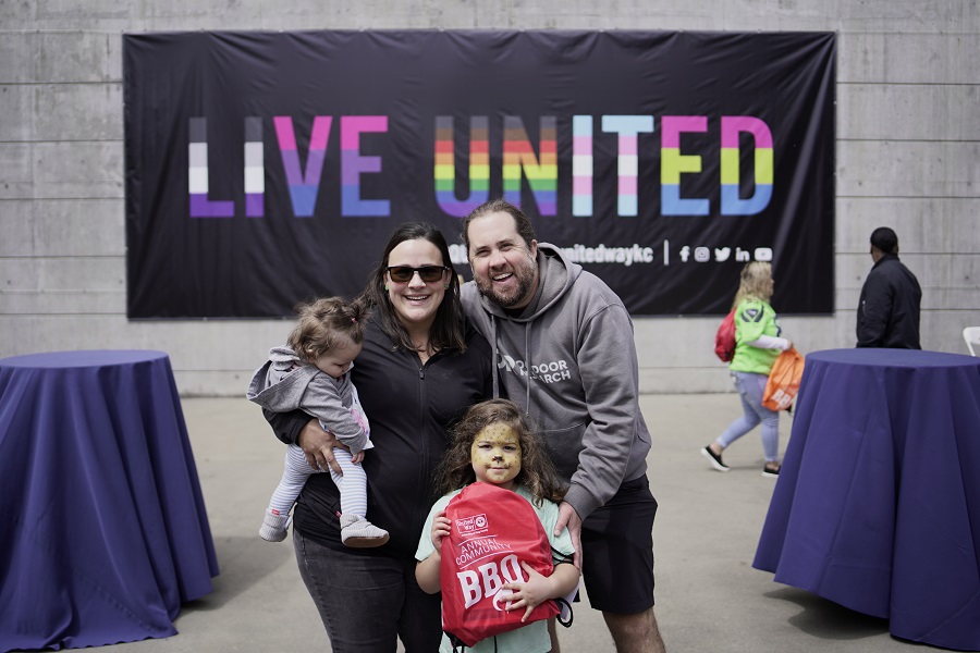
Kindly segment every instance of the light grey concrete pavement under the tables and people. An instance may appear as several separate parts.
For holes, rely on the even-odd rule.
[[[182,402],[221,574],[215,591],[185,604],[179,634],[113,653],[330,651],[293,558],[292,538],[257,531],[279,481],[284,449],[260,409],[242,399]],[[752,569],[775,481],[761,476],[758,430],[725,452],[732,471],[713,471],[698,449],[739,410],[735,394],[645,395],[653,434],[650,484],[660,503],[653,528],[657,618],[672,652],[884,653],[917,644],[889,634],[887,621],[773,582]],[[781,424],[785,449],[791,418]],[[602,617],[575,605],[560,629],[564,653],[612,651]]]

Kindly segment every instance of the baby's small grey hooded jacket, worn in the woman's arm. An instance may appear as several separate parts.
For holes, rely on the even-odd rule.
[[[368,439],[367,418],[351,410],[355,392],[350,370],[334,379],[317,366],[299,360],[291,348],[273,347],[269,361],[253,374],[245,396],[274,412],[305,410],[351,447],[352,454],[357,454],[373,445]],[[359,405],[356,403],[355,408]]]

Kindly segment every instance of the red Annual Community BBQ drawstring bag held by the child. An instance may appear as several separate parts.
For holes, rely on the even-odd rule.
[[[453,648],[516,630],[559,614],[555,601],[536,606],[522,623],[524,608],[505,609],[512,581],[528,580],[520,563],[551,576],[554,565],[544,527],[528,501],[492,483],[471,483],[445,507],[450,534],[440,545],[442,630]]]

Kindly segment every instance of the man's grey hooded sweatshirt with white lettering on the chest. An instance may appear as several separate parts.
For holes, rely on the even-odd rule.
[[[542,434],[565,501],[585,519],[647,470],[633,321],[598,276],[538,244],[538,295],[517,317],[463,286],[467,317],[493,347],[493,390],[524,406]]]

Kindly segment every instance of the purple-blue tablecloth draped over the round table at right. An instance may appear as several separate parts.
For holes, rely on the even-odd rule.
[[[752,565],[894,636],[980,650],[980,358],[809,354]]]

